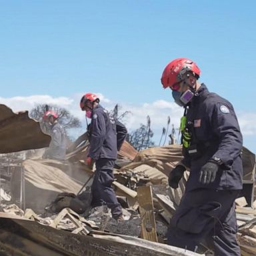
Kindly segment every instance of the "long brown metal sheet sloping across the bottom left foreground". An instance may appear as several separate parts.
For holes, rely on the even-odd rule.
[[[199,256],[176,247],[95,232],[77,235],[35,221],[0,215],[0,255],[3,256]]]

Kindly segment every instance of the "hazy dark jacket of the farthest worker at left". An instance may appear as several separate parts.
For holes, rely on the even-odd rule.
[[[66,139],[65,131],[59,123],[53,123],[50,127],[51,142],[45,153],[45,158],[65,160]]]

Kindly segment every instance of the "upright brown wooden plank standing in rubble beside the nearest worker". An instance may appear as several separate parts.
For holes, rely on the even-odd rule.
[[[138,187],[137,193],[139,214],[141,216],[141,237],[149,241],[157,242],[151,186]]]

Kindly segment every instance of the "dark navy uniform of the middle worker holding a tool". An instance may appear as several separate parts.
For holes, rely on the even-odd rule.
[[[91,191],[93,207],[106,204],[112,216],[121,215],[122,208],[111,184],[114,181],[113,167],[117,159],[117,129],[115,119],[97,105],[91,114],[89,157],[96,160],[96,171]]]

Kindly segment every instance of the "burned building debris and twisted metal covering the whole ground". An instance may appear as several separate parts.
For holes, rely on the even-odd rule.
[[[182,157],[180,145],[138,152],[129,143],[123,144],[115,165],[113,187],[125,221],[117,223],[106,207],[89,207],[93,181],[90,177],[95,170],[84,162],[89,146],[86,135],[69,146],[66,161],[41,159],[41,148],[49,145],[49,136],[41,132],[39,123],[28,119],[27,114],[17,119],[9,108],[0,107],[3,113],[9,113],[1,114],[1,127],[19,122],[32,137],[35,131],[33,142],[25,133],[10,131],[8,135],[7,130],[1,141],[1,255],[211,255],[203,244],[197,253],[165,244],[169,219],[179,205],[189,176],[186,172],[178,189],[168,186],[167,175]],[[9,137],[13,137],[11,147],[7,145]],[[16,149],[19,139],[23,145],[19,143]],[[15,151],[21,152],[10,153]],[[256,255],[256,201],[255,155],[245,148],[243,166],[244,189],[236,201],[237,238],[242,255],[247,256]],[[149,189],[147,195],[151,196],[141,200],[145,189]],[[79,197],[83,203],[79,205],[80,199],[76,202],[86,210],[78,214],[78,206],[65,207],[70,201],[64,198],[76,199],[81,192],[87,201]],[[58,197],[59,201],[55,200]]]

